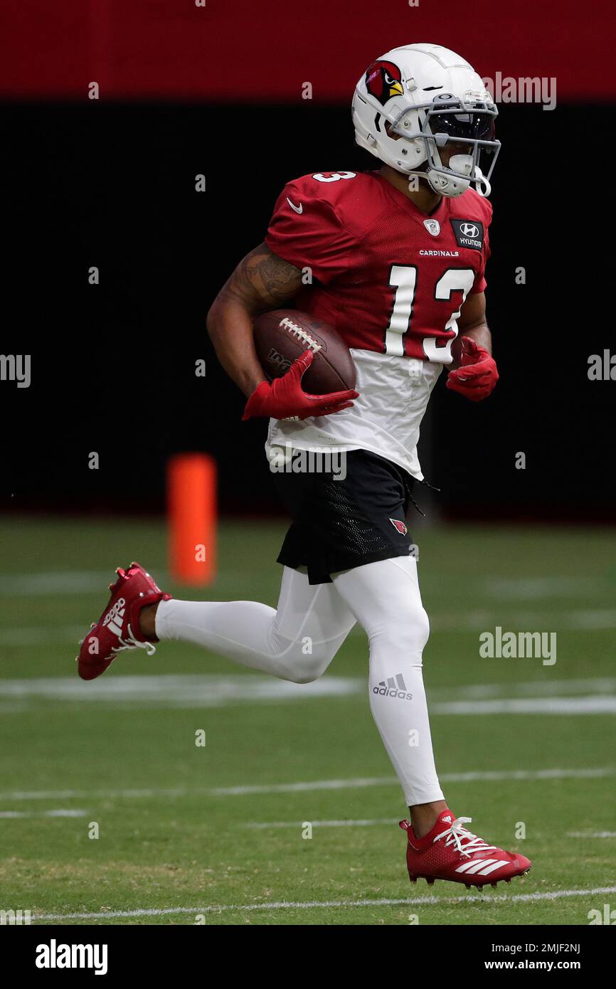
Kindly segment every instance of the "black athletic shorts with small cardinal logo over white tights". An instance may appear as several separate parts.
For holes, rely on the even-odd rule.
[[[307,568],[309,584],[328,584],[330,574],[411,553],[406,528],[410,475],[366,450],[346,453],[341,466],[345,477],[338,480],[336,473],[343,471],[336,472],[335,464],[326,473],[274,473],[293,518],[278,563]]]

